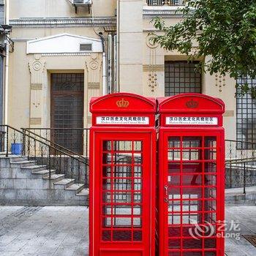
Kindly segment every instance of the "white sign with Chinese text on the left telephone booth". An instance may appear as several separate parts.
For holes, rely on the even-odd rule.
[[[147,116],[97,116],[97,124],[149,124]]]

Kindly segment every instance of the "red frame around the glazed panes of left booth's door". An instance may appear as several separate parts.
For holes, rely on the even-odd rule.
[[[154,182],[154,166],[152,163],[154,162],[154,157],[151,156],[153,152],[152,138],[154,136],[151,132],[124,132],[124,131],[116,131],[114,132],[94,132],[93,135],[94,147],[100,149],[100,153],[94,154],[94,175],[92,178],[93,184],[91,184],[91,200],[94,203],[94,209],[91,219],[93,219],[91,225],[91,231],[94,233],[94,244],[97,244],[99,251],[104,252],[109,249],[113,249],[113,253],[121,252],[126,249],[129,249],[131,252],[141,251],[142,255],[154,255],[154,239],[152,237],[152,227],[154,227],[154,186],[152,183]],[[142,176],[142,240],[141,241],[102,241],[101,230],[102,230],[102,152],[103,152],[103,141],[105,140],[121,140],[121,141],[129,141],[129,140],[141,140],[143,141],[142,148],[142,156],[143,156],[143,176]],[[94,149],[95,151],[95,149]],[[100,189],[99,189],[100,188]],[[97,192],[95,192],[97,191]],[[100,191],[100,192],[99,192]],[[148,192],[150,191],[150,192]],[[116,249],[118,249],[116,251]],[[121,251],[120,251],[121,250]],[[99,252],[94,252],[95,256],[99,255]],[[116,255],[116,254],[115,254]]]

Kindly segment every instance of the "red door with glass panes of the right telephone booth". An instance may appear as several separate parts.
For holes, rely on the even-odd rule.
[[[160,255],[216,256],[223,213],[223,131],[177,129],[162,134],[159,173],[163,184]],[[162,174],[161,174],[162,173]],[[161,194],[160,194],[161,195]]]

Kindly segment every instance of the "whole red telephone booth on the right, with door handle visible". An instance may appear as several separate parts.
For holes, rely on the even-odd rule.
[[[225,140],[220,99],[158,99],[159,255],[223,256]]]

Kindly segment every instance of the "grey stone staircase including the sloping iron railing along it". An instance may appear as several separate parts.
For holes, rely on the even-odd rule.
[[[32,132],[0,127],[0,205],[88,206],[86,157]],[[9,152],[13,143],[22,154]]]

